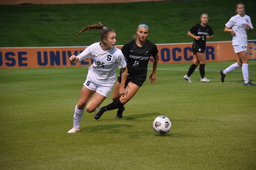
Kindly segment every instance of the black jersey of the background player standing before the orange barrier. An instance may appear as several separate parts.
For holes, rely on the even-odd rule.
[[[193,41],[193,48],[205,48],[206,42],[207,42],[207,35],[212,36],[213,31],[211,26],[201,26],[201,24],[196,24],[195,26],[192,26],[189,30],[192,34],[195,36],[200,36],[200,40]]]

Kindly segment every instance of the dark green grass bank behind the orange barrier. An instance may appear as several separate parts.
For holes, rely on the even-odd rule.
[[[242,2],[255,23],[255,1]],[[208,24],[214,31],[214,38],[209,41],[230,41],[230,33],[223,30],[225,23],[235,15],[236,3],[238,1],[234,0],[193,0],[0,6],[0,47],[88,46],[100,40],[99,31],[74,36],[84,26],[99,21],[116,31],[119,45],[131,39],[140,22],[148,22],[148,38],[154,43],[192,42],[187,32],[200,22],[203,13],[209,14]],[[255,32],[248,34],[248,39],[256,39]]]

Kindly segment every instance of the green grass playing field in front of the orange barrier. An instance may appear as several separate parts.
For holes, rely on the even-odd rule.
[[[233,62],[207,63],[192,83],[190,64],[164,64],[157,82],[144,83],[125,105],[98,121],[84,113],[81,132],[73,127],[87,67],[0,70],[1,169],[255,169],[256,87],[244,87],[241,70],[220,82],[219,70]],[[149,65],[148,72],[150,72]],[[250,61],[256,82],[256,61]],[[111,102],[109,96],[103,105]],[[170,133],[155,133],[165,115]]]

